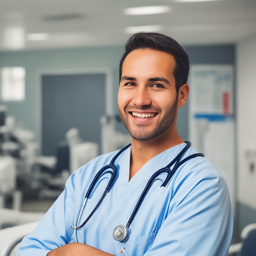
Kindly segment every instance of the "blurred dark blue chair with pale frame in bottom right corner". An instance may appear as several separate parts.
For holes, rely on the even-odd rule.
[[[256,256],[256,223],[245,226],[240,237],[242,242],[230,245],[227,255]]]

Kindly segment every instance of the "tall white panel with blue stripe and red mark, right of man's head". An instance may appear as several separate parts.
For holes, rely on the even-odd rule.
[[[189,139],[222,173],[234,198],[234,106],[232,65],[192,65]]]

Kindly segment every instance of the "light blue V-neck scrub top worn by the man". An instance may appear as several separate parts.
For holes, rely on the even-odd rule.
[[[130,225],[125,243],[115,241],[112,232],[126,225],[151,175],[165,167],[184,148],[179,144],[148,161],[129,181],[130,147],[117,158],[117,179],[100,207],[83,229],[77,231],[85,243],[113,255],[125,247],[128,256],[226,256],[233,233],[233,215],[227,184],[204,157],[184,163],[166,187],[166,174],[159,175]],[[96,173],[109,164],[117,152],[92,159],[66,182],[64,191],[47,211],[36,229],[26,236],[17,256],[45,256],[49,251],[74,243],[76,221],[85,194]],[[197,153],[190,147],[184,157]],[[81,224],[97,204],[110,176],[103,176],[81,216]]]

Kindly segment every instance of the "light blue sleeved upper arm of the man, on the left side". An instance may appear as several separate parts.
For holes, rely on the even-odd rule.
[[[74,184],[75,175],[66,182],[61,193],[45,216],[40,220],[34,231],[23,238],[18,247],[17,256],[45,256],[51,250],[70,242],[74,231]]]

